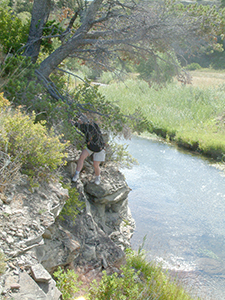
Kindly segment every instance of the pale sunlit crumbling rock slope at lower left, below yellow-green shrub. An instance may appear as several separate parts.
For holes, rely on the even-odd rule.
[[[33,252],[44,244],[43,235],[61,212],[68,191],[55,183],[31,192],[24,177],[20,185],[0,197],[0,247],[7,258],[0,294],[4,299],[59,299],[55,281]],[[42,281],[33,280],[32,268],[33,274],[43,274]],[[47,292],[40,285],[45,285]]]

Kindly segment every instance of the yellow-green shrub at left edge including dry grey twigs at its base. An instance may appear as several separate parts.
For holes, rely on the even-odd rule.
[[[53,178],[64,163],[68,143],[62,143],[42,123],[35,123],[35,114],[13,109],[2,94],[0,118],[0,191],[16,182],[20,171],[29,176],[31,185]]]

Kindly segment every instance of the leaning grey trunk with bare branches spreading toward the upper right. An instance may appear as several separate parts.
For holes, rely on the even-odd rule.
[[[34,1],[37,5],[38,0]],[[41,63],[39,72],[46,78],[64,59],[79,57],[81,53],[84,57],[85,53],[96,55],[95,59],[100,63],[102,59],[106,60],[100,53],[111,59],[113,51],[117,51],[115,57],[119,57],[120,51],[131,53],[132,48],[135,57],[171,51],[183,55],[184,51],[204,45],[216,31],[206,22],[214,18],[215,26],[217,24],[210,11],[204,14],[196,10],[190,12],[170,5],[169,1],[94,0],[85,3],[87,6],[83,7],[77,1],[77,11],[63,34],[71,33],[78,14],[81,16],[79,28]]]

